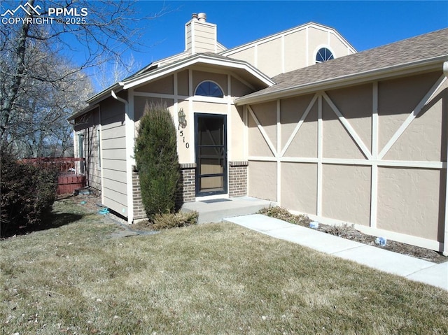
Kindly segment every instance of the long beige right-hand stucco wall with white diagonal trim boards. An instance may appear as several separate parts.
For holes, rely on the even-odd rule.
[[[290,210],[439,250],[447,81],[437,71],[248,106],[249,193],[268,197],[262,178]]]

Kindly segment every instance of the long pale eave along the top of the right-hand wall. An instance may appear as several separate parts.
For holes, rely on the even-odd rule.
[[[379,79],[391,78],[395,76],[402,76],[407,73],[416,73],[421,71],[430,71],[440,69],[440,64],[447,61],[448,55],[442,55],[431,59],[423,59],[419,62],[412,62],[407,64],[399,64],[396,66],[389,66],[381,69],[374,69],[360,73],[353,73],[348,76],[341,76],[337,78],[330,78],[313,83],[287,87],[283,90],[275,92],[267,92],[255,97],[240,97],[235,99],[235,105],[241,106],[246,104],[259,103],[275,99],[281,99],[293,96],[295,94],[307,94],[316,92],[318,90],[329,90],[341,86],[355,85],[357,83],[365,83],[367,81],[374,81]]]

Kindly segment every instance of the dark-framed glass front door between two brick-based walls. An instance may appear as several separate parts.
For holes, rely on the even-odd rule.
[[[227,193],[226,115],[195,114],[196,197]]]

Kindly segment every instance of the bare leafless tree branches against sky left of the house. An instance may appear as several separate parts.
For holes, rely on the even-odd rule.
[[[2,145],[26,148],[26,155],[37,155],[41,148],[66,145],[70,138],[66,117],[83,108],[92,94],[92,85],[83,70],[101,64],[114,64],[114,80],[134,71],[127,50],[145,45],[141,29],[153,15],[137,12],[136,1],[27,0],[23,6],[40,8],[18,10],[17,24],[2,24],[0,29],[0,140]],[[0,8],[15,9],[17,1],[2,1]],[[82,13],[76,20],[64,20],[52,8],[65,13]],[[36,18],[50,23],[39,24]],[[62,18],[62,22],[57,21]],[[51,19],[51,20],[50,20]],[[77,52],[85,55],[80,62]],[[127,72],[127,73],[126,73]],[[106,81],[106,78],[104,78]],[[59,131],[60,130],[60,131]],[[53,143],[54,142],[54,143]]]

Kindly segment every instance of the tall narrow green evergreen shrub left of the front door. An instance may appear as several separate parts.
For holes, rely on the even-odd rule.
[[[166,106],[145,106],[135,144],[141,201],[146,215],[174,213],[181,173],[177,155],[176,127]]]

